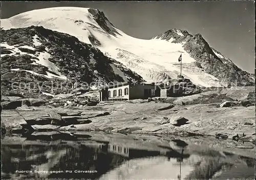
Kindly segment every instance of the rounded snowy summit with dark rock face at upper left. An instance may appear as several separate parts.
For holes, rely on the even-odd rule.
[[[8,19],[1,19],[4,30],[42,26],[46,29],[67,33],[76,36],[80,41],[101,46],[97,38],[103,35],[108,39],[111,36],[120,36],[104,13],[98,9],[80,7],[54,7],[36,9],[17,14]],[[79,34],[79,36],[77,36]]]

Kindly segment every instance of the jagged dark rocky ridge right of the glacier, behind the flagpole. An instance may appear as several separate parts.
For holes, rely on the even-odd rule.
[[[241,70],[229,58],[211,48],[201,34],[191,35],[186,30],[173,29],[154,38],[182,43],[184,50],[196,60],[195,65],[220,79],[223,85],[254,85],[254,75]]]

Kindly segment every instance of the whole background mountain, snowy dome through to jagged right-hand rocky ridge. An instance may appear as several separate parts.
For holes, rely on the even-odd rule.
[[[146,81],[177,78],[182,53],[182,75],[205,87],[253,85],[254,76],[211,48],[200,35],[169,30],[153,39],[133,38],[116,29],[104,13],[91,8],[57,7],[33,10],[1,20],[4,30],[42,26],[77,37],[106,56],[123,63]]]

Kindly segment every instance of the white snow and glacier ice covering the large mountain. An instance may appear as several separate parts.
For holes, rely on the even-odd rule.
[[[168,31],[172,34],[169,39],[162,38],[166,33],[148,40],[138,39],[115,28],[103,12],[78,7],[39,9],[1,19],[4,30],[30,26],[67,33],[82,42],[90,43],[106,56],[138,73],[147,82],[177,78],[180,73],[178,58],[182,53],[184,77],[205,87],[223,85],[221,79],[195,65],[197,60],[184,48],[187,37],[191,37],[184,30]],[[215,55],[219,58],[222,56],[217,52]]]

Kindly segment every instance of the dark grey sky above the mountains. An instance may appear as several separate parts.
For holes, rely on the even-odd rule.
[[[254,72],[253,1],[1,2],[1,18],[59,6],[96,8],[126,34],[150,39],[169,29],[201,33],[211,47]]]

